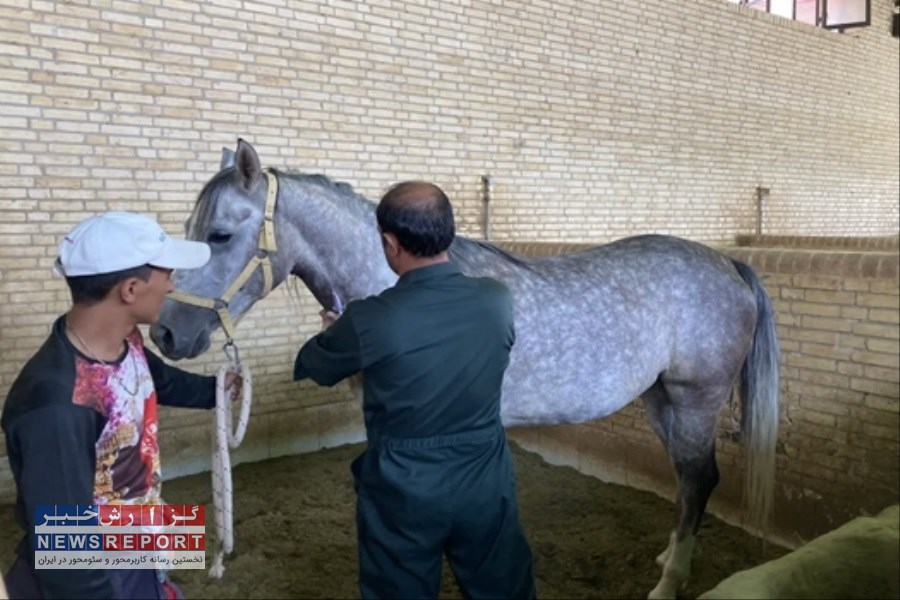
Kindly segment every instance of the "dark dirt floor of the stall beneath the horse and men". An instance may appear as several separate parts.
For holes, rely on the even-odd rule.
[[[235,551],[224,577],[175,571],[185,597],[357,598],[354,494],[350,461],[362,444],[241,465],[234,470]],[[653,494],[610,485],[569,467],[547,464],[513,444],[522,522],[535,555],[542,598],[646,598],[659,578],[674,505]],[[209,474],[167,481],[167,502],[208,503]],[[12,507],[0,507],[0,567],[20,537]],[[735,571],[786,553],[707,516],[693,576],[695,598]],[[207,563],[211,562],[211,547]],[[443,598],[460,598],[444,569]]]

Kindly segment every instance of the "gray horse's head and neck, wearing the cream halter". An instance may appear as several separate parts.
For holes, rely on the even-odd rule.
[[[300,277],[323,308],[377,293],[395,276],[384,261],[374,205],[320,175],[265,171],[238,140],[200,192],[187,238],[209,244],[209,262],[178,271],[150,337],[172,359],[205,352],[223,327],[229,339],[255,302]]]

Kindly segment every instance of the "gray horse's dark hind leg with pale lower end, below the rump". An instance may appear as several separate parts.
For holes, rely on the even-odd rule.
[[[654,386],[651,390],[645,394],[645,406],[675,467],[678,522],[668,547],[657,557],[662,577],[648,597],[675,598],[690,575],[700,520],[719,482],[715,431],[725,393],[694,393],[690,395],[693,403],[688,405],[680,386]]]

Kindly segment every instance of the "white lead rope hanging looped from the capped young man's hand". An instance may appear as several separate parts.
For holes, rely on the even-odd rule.
[[[228,352],[226,350],[226,356]],[[229,358],[231,358],[229,356]],[[225,377],[229,373],[239,373],[243,379],[243,398],[241,414],[238,417],[237,429],[232,432],[232,408],[234,393],[226,392]],[[250,420],[250,404],[253,399],[253,382],[250,369],[240,364],[235,349],[235,358],[219,368],[216,376],[216,431],[213,435],[212,482],[213,506],[216,521],[216,554],[209,568],[209,576],[219,579],[225,573],[223,560],[234,548],[232,490],[231,490],[231,455],[241,445],[247,423]]]

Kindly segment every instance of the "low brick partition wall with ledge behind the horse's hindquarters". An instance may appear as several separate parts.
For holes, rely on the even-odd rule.
[[[815,240],[782,239],[787,247]],[[820,245],[824,243],[819,240]],[[848,246],[852,241],[829,240]],[[875,244],[875,245],[880,245]],[[551,255],[569,245],[505,244]],[[775,537],[798,545],[900,497],[900,257],[892,252],[729,247],[774,301],[781,342]],[[729,408],[717,442],[722,482],[710,511],[741,522],[743,455]],[[585,425],[517,429],[551,462],[674,498],[674,476],[640,401]]]

